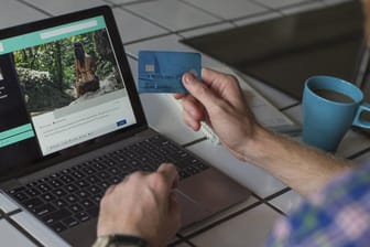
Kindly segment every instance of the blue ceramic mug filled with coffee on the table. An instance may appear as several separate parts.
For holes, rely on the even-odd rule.
[[[363,103],[363,94],[356,85],[344,79],[309,77],[302,104],[303,141],[325,151],[335,152],[351,126],[370,128],[370,122],[361,120],[361,112],[370,111],[370,105]]]

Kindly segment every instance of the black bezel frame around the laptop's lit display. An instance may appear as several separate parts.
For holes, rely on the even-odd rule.
[[[67,24],[75,21],[81,21],[84,19],[89,19],[94,17],[104,17],[106,26],[111,39],[112,49],[116,53],[116,58],[118,66],[121,69],[124,86],[127,88],[130,103],[132,105],[133,114],[137,122],[113,132],[100,136],[92,140],[85,141],[83,143],[76,144],[74,147],[64,149],[58,152],[51,153],[48,155],[42,157],[39,160],[32,161],[30,163],[20,164],[14,167],[12,170],[8,170],[0,175],[0,181],[8,180],[11,178],[21,176],[41,170],[45,167],[51,167],[55,163],[62,162],[64,160],[70,159],[81,153],[89,152],[94,149],[102,147],[108,143],[121,140],[123,137],[132,136],[143,129],[148,128],[148,122],[144,116],[142,104],[137,92],[135,83],[132,76],[130,64],[124,52],[123,43],[119,34],[117,23],[109,6],[95,7],[87,10],[81,10],[73,13],[67,13],[58,17],[53,17],[26,24],[21,24],[8,29],[0,30],[0,40],[22,35],[30,32],[36,32],[48,28],[54,28],[57,25]],[[31,119],[30,119],[31,121]],[[42,155],[42,154],[41,154]],[[11,162],[11,161],[10,161]]]

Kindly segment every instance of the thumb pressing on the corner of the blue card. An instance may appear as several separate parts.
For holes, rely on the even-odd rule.
[[[215,93],[206,84],[198,80],[192,73],[185,73],[183,75],[183,84],[189,94],[207,109],[218,100]]]

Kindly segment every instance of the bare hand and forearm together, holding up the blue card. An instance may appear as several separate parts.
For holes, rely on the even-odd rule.
[[[303,195],[348,169],[341,160],[262,128],[233,76],[203,68],[202,80],[189,73],[183,76],[189,94],[175,98],[183,99],[184,121],[194,130],[206,121],[238,159],[259,165]]]

